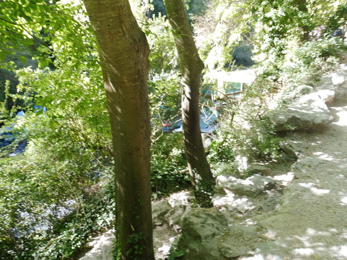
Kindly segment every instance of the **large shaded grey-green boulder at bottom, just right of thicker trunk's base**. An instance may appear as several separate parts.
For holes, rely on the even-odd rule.
[[[234,259],[260,242],[254,226],[228,225],[217,209],[192,209],[183,216],[183,233],[177,248],[183,260]]]

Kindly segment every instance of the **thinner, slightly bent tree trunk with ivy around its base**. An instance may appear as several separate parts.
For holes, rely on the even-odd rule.
[[[198,175],[205,187],[212,190],[214,178],[206,159],[200,129],[199,96],[203,61],[198,55],[183,1],[164,2],[169,22],[174,29],[174,39],[183,74],[182,121],[189,174],[193,187],[196,186],[196,175]]]

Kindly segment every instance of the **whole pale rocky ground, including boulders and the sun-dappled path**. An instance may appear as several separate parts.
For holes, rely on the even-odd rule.
[[[155,202],[157,259],[170,248],[184,260],[347,259],[346,64],[309,90],[273,114],[279,131],[298,130],[282,141],[296,161],[250,165],[246,180],[219,175],[212,209],[194,208],[187,191]],[[102,239],[112,235],[83,260],[112,259]]]

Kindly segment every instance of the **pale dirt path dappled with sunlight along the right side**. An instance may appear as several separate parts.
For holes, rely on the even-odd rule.
[[[268,242],[240,259],[347,259],[347,98],[330,105],[335,118],[320,133],[296,133],[296,179],[269,218],[255,217]]]

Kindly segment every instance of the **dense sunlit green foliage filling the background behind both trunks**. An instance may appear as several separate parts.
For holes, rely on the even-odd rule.
[[[180,121],[180,72],[162,1],[139,2],[133,10],[151,47],[158,199],[189,189],[183,137],[172,131]],[[220,91],[208,77],[214,70],[264,68],[239,101],[219,96],[219,129],[208,151],[214,174],[228,168],[246,175],[237,155],[288,159],[266,112],[337,64],[346,51],[346,3],[191,0],[186,7],[205,62],[202,88]],[[319,37],[312,33],[322,28]],[[113,148],[91,32],[78,1],[0,1],[0,259],[72,259],[114,225]],[[201,97],[205,111],[215,106]]]

